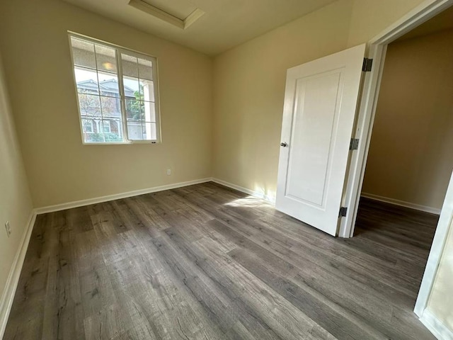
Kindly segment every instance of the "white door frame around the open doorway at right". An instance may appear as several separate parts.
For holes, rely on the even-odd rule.
[[[373,59],[373,67],[372,72],[365,74],[362,97],[357,113],[357,127],[353,138],[359,138],[360,143],[357,151],[352,152],[350,171],[345,181],[342,205],[344,204],[343,206],[348,207],[348,215],[340,221],[338,231],[338,236],[340,237],[352,237],[354,233],[387,45],[450,6],[453,6],[453,0],[426,0],[367,42],[368,57]],[[414,312],[420,318],[423,316],[428,304],[432,283],[434,282],[440,257],[447,240],[449,226],[453,220],[453,175],[449,185],[449,192],[451,192],[451,195],[447,192],[447,198],[442,206],[440,220],[415,303]],[[452,196],[452,198],[449,196]]]

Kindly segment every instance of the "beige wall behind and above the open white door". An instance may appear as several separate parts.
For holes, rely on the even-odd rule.
[[[275,196],[286,69],[366,42],[420,2],[339,0],[217,56],[213,176]]]

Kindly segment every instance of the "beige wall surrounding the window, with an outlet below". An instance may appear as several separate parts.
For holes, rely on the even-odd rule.
[[[35,208],[211,175],[210,57],[60,0],[1,1],[0,13],[0,47]],[[67,30],[158,58],[161,145],[81,144]]]

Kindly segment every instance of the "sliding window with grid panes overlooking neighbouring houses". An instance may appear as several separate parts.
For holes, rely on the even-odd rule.
[[[69,38],[84,143],[159,142],[156,58]]]

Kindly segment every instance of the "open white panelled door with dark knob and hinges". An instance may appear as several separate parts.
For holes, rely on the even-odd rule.
[[[336,236],[365,44],[287,70],[275,207]]]

